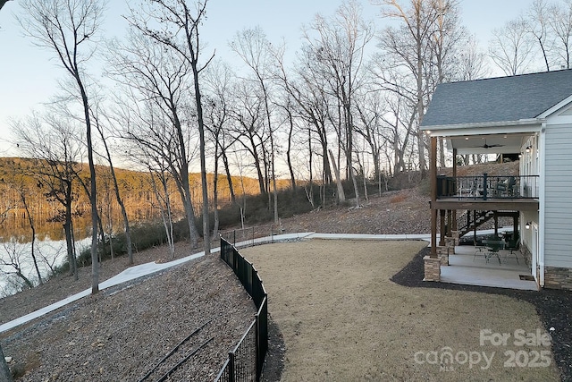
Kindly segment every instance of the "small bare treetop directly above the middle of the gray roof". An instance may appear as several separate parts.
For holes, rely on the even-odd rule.
[[[526,22],[518,19],[492,31],[489,55],[506,75],[522,74],[529,68],[533,44],[526,30]]]

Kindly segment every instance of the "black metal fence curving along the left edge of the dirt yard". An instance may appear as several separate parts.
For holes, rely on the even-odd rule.
[[[239,344],[229,352],[229,358],[224,362],[216,381],[258,381],[268,350],[268,296],[265,285],[262,284],[257,269],[223,237],[221,237],[221,259],[239,277],[240,283],[252,297],[258,311],[254,321],[240,338]]]

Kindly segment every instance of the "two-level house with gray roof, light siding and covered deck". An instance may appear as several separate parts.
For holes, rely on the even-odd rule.
[[[430,140],[432,183],[425,279],[439,280],[451,239],[486,219],[512,216],[536,283],[572,289],[572,70],[443,83],[421,127]],[[452,177],[437,174],[440,139],[453,153]],[[518,176],[458,177],[457,156],[475,153],[520,157]]]

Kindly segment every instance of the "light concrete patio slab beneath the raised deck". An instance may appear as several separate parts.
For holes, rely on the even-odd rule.
[[[485,251],[470,245],[455,247],[455,254],[449,256],[449,266],[441,267],[442,283],[538,290],[535,281],[521,279],[521,276],[531,275],[531,269],[526,265],[522,253],[514,251],[511,254],[509,250],[501,250],[499,263],[496,256],[487,261]]]

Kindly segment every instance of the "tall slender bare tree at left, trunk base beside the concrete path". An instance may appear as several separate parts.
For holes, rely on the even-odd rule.
[[[86,127],[88,146],[88,166],[91,192],[91,293],[99,291],[99,261],[97,259],[97,187],[96,167],[93,157],[91,117],[89,97],[86,87],[85,66],[94,54],[95,45],[90,41],[96,38],[105,2],[91,0],[23,0],[26,11],[21,25],[29,36],[35,38],[39,47],[52,50],[59,64],[76,85],[72,93],[79,98]]]

